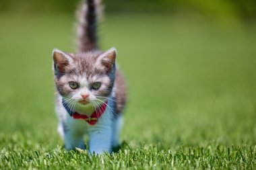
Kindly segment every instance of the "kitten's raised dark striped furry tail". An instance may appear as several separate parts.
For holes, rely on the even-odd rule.
[[[98,15],[102,11],[100,0],[83,0],[77,11],[77,52],[96,50]]]

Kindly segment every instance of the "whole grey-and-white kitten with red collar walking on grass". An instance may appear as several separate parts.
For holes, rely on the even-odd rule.
[[[58,131],[68,150],[112,152],[126,100],[125,81],[116,67],[117,50],[98,50],[96,25],[100,1],[83,1],[77,24],[78,53],[53,50]]]

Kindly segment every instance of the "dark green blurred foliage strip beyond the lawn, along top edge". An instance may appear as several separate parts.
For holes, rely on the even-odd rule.
[[[1,11],[73,13],[79,0],[1,0]],[[238,17],[255,19],[256,1],[253,0],[105,0],[106,12],[143,13],[161,12],[184,15],[197,13],[212,19]]]

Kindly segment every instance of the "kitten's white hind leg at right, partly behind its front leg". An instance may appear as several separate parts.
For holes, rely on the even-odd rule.
[[[113,147],[119,146],[119,133],[123,125],[123,115],[119,114],[113,119]]]

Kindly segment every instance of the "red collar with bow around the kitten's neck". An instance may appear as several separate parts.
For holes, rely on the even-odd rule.
[[[105,103],[100,105],[100,107],[96,108],[96,110],[92,113],[91,116],[86,116],[84,114],[79,114],[79,113],[75,112],[74,114],[72,114],[72,117],[74,119],[84,119],[84,120],[86,120],[86,122],[88,122],[88,124],[94,125],[94,124],[96,124],[96,122],[98,122],[98,118],[100,118],[100,116],[102,116],[102,114],[106,110],[107,104],[108,104],[108,101],[106,100]]]

